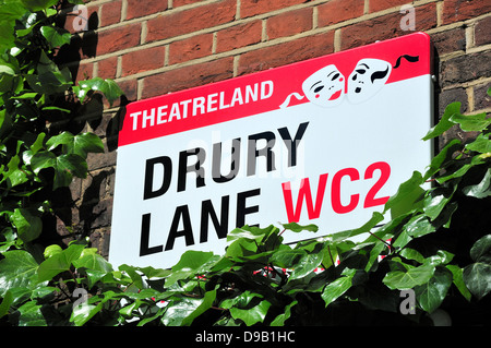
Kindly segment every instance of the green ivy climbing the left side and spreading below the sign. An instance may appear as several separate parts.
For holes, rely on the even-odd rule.
[[[188,251],[169,269],[115,267],[83,238],[43,242],[44,218],[56,214],[50,192],[84,178],[86,155],[103,151],[92,133],[53,132],[49,115],[73,112],[59,98],[86,103],[96,89],[115,100],[120,92],[100,79],[75,85],[53,63],[69,43],[53,1],[3,7],[15,26],[0,38],[1,324],[433,325],[438,311],[456,325],[491,324],[491,120],[462,115],[458,103],[423,141],[454,127],[475,137],[450,141],[357,229],[243,226],[221,254]],[[284,242],[303,230],[312,239]]]

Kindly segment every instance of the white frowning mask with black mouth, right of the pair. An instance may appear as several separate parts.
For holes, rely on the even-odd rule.
[[[361,59],[348,77],[348,100],[357,104],[373,97],[387,82],[392,67],[380,59]]]

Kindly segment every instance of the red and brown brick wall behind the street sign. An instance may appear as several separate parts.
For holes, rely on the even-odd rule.
[[[95,0],[67,12],[65,27],[74,38],[67,57],[76,79],[115,79],[125,93],[123,103],[414,29],[430,34],[434,43],[435,113],[451,101],[462,101],[465,112],[491,111],[486,94],[491,85],[489,0]],[[89,177],[72,184],[71,220],[58,223],[60,233],[68,226],[89,235],[104,255],[121,105],[104,103],[97,122],[87,117],[107,152],[91,155]],[[466,134],[453,130],[448,136]]]

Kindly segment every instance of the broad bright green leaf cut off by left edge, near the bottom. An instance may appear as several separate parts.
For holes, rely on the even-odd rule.
[[[38,264],[27,251],[7,251],[3,257],[0,261],[0,296],[9,289],[34,289],[37,286]]]

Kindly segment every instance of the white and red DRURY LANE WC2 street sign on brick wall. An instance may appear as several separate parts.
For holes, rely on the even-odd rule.
[[[243,225],[361,227],[431,160],[431,70],[415,33],[128,105],[109,261],[223,254]]]

